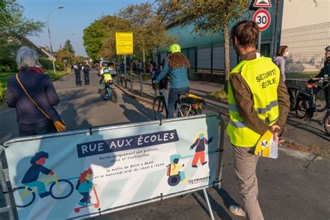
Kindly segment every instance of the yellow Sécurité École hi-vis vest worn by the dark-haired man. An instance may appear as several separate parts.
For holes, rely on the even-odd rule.
[[[252,61],[241,61],[230,74],[240,72],[253,95],[253,108],[258,117],[268,125],[278,120],[277,88],[280,81],[280,70],[271,58],[259,57]],[[230,142],[239,147],[256,146],[261,135],[244,123],[237,111],[233,91],[228,83],[228,104],[230,121],[227,133]]]

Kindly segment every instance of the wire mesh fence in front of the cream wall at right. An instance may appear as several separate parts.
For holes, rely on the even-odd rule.
[[[323,67],[324,48],[330,45],[330,22],[280,31],[287,45],[285,72],[318,72]]]

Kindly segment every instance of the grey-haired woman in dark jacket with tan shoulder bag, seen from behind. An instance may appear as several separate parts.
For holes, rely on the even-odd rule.
[[[54,108],[60,100],[52,80],[39,68],[38,54],[21,47],[16,63],[19,73],[8,78],[6,102],[16,108],[19,136],[64,131],[65,124]]]

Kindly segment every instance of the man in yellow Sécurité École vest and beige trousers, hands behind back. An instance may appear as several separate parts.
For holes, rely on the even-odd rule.
[[[233,164],[242,207],[232,205],[229,209],[248,219],[263,219],[258,203],[258,156],[253,152],[267,130],[274,139],[281,134],[290,100],[277,65],[256,50],[258,25],[246,20],[238,22],[231,38],[241,61],[229,75],[227,132],[234,146]]]

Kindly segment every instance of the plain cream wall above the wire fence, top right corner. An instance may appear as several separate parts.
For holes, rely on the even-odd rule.
[[[330,22],[330,0],[284,1],[282,29]],[[315,1],[318,6],[315,7]]]

